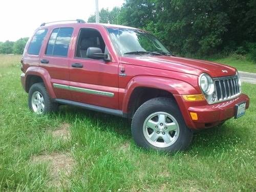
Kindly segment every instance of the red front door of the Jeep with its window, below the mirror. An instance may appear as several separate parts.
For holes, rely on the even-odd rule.
[[[108,52],[98,30],[81,28],[78,34],[75,55],[69,64],[72,100],[118,109],[118,63],[87,57],[89,47]]]

